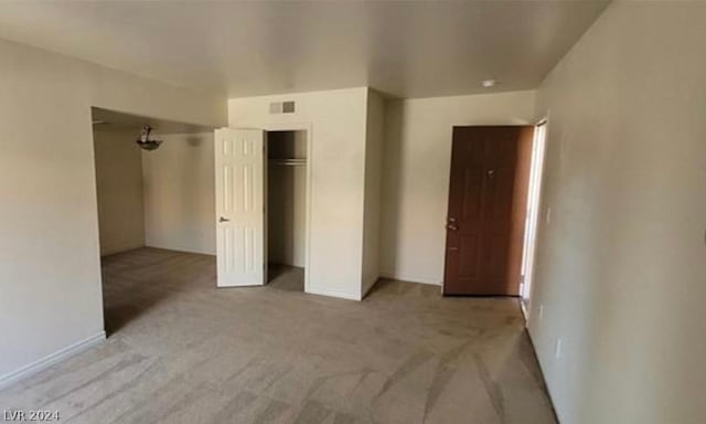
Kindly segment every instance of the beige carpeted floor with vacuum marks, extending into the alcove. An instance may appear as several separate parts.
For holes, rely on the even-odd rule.
[[[108,340],[0,392],[62,423],[555,423],[516,300],[215,288],[211,256],[104,259]]]

